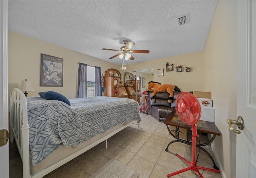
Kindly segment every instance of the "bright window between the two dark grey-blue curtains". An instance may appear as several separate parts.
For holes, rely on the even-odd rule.
[[[87,66],[87,97],[95,96],[95,67]]]

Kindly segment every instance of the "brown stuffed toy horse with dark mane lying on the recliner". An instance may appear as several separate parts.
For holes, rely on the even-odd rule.
[[[154,88],[154,89],[152,89]],[[173,91],[180,92],[180,89],[172,84],[161,84],[159,82],[149,81],[148,82],[148,91],[147,92],[153,92],[151,95],[151,101],[156,102],[156,93],[159,92],[168,92],[169,98],[168,103],[172,103],[173,100]]]

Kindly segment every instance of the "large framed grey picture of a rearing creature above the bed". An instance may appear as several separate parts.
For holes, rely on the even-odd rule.
[[[40,86],[63,86],[63,59],[41,54]]]

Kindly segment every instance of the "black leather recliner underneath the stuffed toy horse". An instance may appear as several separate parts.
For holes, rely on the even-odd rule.
[[[168,103],[169,93],[160,92],[156,93],[156,102],[151,101],[152,92],[149,92],[148,99],[150,103],[150,113],[151,115],[158,119],[159,122],[164,122],[167,116],[175,110],[175,99],[181,92],[174,92],[172,103]]]

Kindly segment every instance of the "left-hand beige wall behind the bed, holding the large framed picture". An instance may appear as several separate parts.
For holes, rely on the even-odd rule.
[[[12,31],[9,31],[8,38],[9,92],[12,88],[19,87],[21,80],[27,79],[36,90],[35,92],[28,92],[28,96],[38,96],[38,92],[42,91],[56,91],[67,98],[76,98],[78,62],[90,66],[99,66],[101,67],[102,74],[104,74],[108,68],[120,69],[119,65],[17,34]],[[41,53],[63,58],[63,87],[40,86]]]

